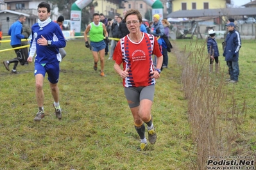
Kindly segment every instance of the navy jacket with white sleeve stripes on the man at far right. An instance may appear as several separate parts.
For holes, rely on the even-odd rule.
[[[223,52],[225,61],[238,61],[239,49],[241,48],[241,38],[239,33],[234,29],[226,35],[226,47]]]

